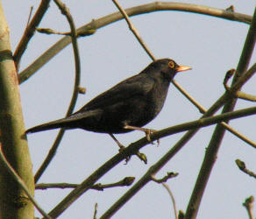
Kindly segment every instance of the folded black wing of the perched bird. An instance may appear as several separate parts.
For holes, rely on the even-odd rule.
[[[121,81],[103,94],[96,96],[96,98],[83,106],[78,113],[84,110],[100,109],[118,102],[124,102],[136,95],[146,95],[153,86],[153,78],[148,77],[146,74],[137,74]]]

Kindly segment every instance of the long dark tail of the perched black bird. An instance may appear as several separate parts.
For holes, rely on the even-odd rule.
[[[86,112],[77,112],[71,115],[70,117],[60,118],[58,120],[55,120],[46,124],[39,124],[35,127],[28,129],[27,131],[25,131],[25,133],[28,134],[28,133],[53,130],[58,128],[67,128],[67,129],[79,128],[80,126],[79,124],[81,124],[82,119],[86,117],[95,116],[98,113],[101,113],[101,110],[96,109],[96,110],[89,110]]]

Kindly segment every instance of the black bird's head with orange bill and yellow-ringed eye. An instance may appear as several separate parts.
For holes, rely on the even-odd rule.
[[[174,60],[170,59],[155,60],[149,66],[152,66],[154,71],[158,70],[160,74],[167,78],[169,81],[172,81],[175,74],[178,72],[192,69],[192,67],[180,66]]]

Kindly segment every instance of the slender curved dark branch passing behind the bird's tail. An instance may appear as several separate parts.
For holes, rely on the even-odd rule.
[[[75,84],[74,84],[74,89],[73,89],[73,95],[71,98],[71,101],[69,103],[68,111],[66,114],[66,117],[68,117],[72,111],[75,108],[75,103],[79,94],[79,84],[80,84],[80,77],[81,77],[81,64],[80,64],[80,56],[79,56],[79,50],[77,46],[77,40],[76,40],[76,30],[75,30],[75,23],[70,15],[68,9],[66,8],[65,4],[62,4],[59,0],[54,0],[55,4],[58,5],[60,8],[60,11],[66,16],[68,19],[68,24],[70,25],[70,30],[71,30],[71,40],[72,40],[72,46],[73,46],[73,51],[74,51],[74,56],[75,56]],[[46,170],[46,167],[50,164],[52,161],[58,146],[60,145],[60,141],[64,135],[65,130],[60,129],[53,146],[51,147],[50,151],[48,152],[46,159],[44,160],[43,164],[39,167],[39,170],[35,174],[35,182],[37,182],[40,178],[40,176],[44,173]]]

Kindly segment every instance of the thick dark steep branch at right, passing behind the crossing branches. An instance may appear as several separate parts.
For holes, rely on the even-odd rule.
[[[247,37],[245,39],[245,45],[238,63],[237,72],[232,81],[231,88],[233,88],[237,84],[239,77],[241,77],[241,75],[245,73],[252,56],[252,51],[255,45],[255,41],[256,41],[256,8],[252,18],[252,24],[249,28]],[[236,91],[238,91],[238,89]],[[236,104],[236,99],[229,100],[224,105],[223,113],[233,110],[235,107],[235,104]],[[222,139],[224,138],[224,133],[225,133],[224,127],[222,127],[220,124],[217,124],[217,127],[212,135],[212,138],[210,139],[210,144],[208,145],[207,151],[205,152],[205,157],[203,159],[203,164],[201,166],[201,170],[196,180],[196,185],[194,187],[193,193],[188,202],[188,208],[185,215],[186,219],[196,218],[200,203],[203,198],[204,189],[210,178],[210,172],[215,164],[218,149],[221,145]]]

